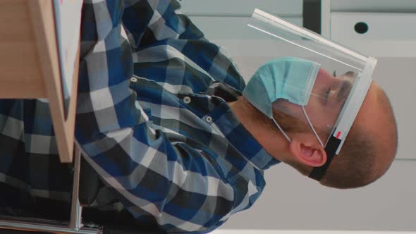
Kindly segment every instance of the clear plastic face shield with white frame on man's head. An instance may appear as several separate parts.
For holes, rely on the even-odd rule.
[[[258,9],[245,27],[250,48],[231,54],[250,78],[243,96],[288,141],[294,131],[316,135],[327,161],[310,177],[320,180],[353,125],[377,60]]]

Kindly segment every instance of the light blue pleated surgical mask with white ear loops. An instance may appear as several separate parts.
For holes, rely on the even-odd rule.
[[[319,63],[302,58],[274,59],[257,70],[243,90],[243,96],[256,109],[271,118],[289,142],[289,137],[273,117],[271,104],[277,99],[286,99],[302,106],[308,123],[317,135],[303,106],[306,106],[310,99],[319,68]],[[318,136],[317,138],[322,144]]]

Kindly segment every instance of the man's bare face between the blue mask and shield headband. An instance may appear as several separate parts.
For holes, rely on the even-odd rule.
[[[345,100],[353,86],[354,78],[354,73],[334,76],[322,68],[319,69],[317,79],[312,88],[312,94],[305,106],[305,111],[314,128],[321,133],[320,137],[322,137],[321,140],[323,142],[329,136],[345,104]],[[300,122],[305,123],[304,126],[307,126],[307,119],[301,106],[279,99],[274,103],[274,109],[297,118]],[[310,127],[307,127],[305,130],[309,131]],[[324,137],[326,138],[324,139]]]

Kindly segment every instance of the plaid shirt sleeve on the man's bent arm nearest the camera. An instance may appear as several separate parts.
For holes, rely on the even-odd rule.
[[[176,4],[85,1],[75,137],[133,216],[150,214],[168,232],[199,233],[247,208],[247,185],[226,178],[224,159],[153,129],[129,88],[132,51],[169,38],[203,39],[176,15]]]

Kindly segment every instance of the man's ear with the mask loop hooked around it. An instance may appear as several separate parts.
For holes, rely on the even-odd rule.
[[[313,134],[298,133],[293,135],[289,144],[292,156],[301,164],[319,167],[326,162],[326,152]]]

